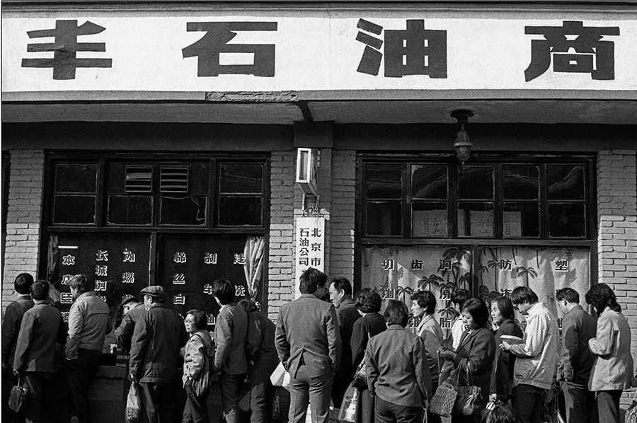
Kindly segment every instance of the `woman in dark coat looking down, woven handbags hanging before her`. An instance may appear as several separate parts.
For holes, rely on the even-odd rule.
[[[452,415],[452,423],[478,423],[480,412],[486,407],[491,383],[491,371],[495,359],[495,337],[488,326],[489,311],[481,299],[469,299],[462,305],[462,320],[466,330],[454,352],[444,349],[442,358],[451,361],[454,369],[460,368],[461,381],[468,370],[471,385],[481,388],[478,410],[471,416]]]

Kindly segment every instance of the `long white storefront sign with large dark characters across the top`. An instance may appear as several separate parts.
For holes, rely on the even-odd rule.
[[[637,13],[4,12],[3,91],[637,90]]]

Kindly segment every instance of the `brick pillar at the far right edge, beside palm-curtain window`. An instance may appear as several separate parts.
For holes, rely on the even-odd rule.
[[[597,155],[597,282],[614,289],[631,325],[631,351],[637,350],[637,167],[636,151]],[[630,403],[629,393],[621,400]]]

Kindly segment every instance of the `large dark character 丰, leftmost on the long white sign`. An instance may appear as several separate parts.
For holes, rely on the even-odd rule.
[[[55,21],[54,30],[27,31],[29,38],[54,37],[54,42],[28,44],[27,52],[53,52],[52,59],[22,59],[23,68],[53,68],[53,79],[75,79],[77,68],[110,68],[113,59],[77,58],[77,52],[105,52],[104,42],[77,42],[79,35],[95,35],[106,28],[86,21]]]

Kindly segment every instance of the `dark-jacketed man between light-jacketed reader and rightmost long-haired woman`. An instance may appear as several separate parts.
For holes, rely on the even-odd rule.
[[[597,423],[595,392],[588,390],[595,354],[588,340],[595,337],[597,322],[580,306],[580,294],[572,288],[557,291],[556,300],[562,311],[563,353],[558,376],[563,380],[567,423]]]

